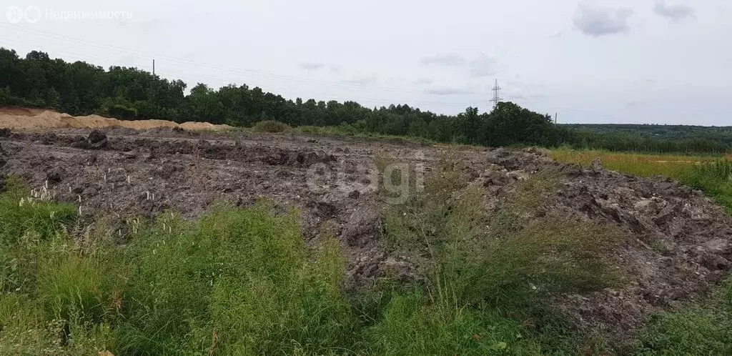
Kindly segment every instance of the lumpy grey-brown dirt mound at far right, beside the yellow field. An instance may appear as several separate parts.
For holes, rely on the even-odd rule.
[[[654,311],[695,300],[732,267],[732,219],[671,179],[574,166],[545,209],[617,224],[633,237],[614,256],[628,272],[627,287],[566,300],[587,325],[632,327]]]

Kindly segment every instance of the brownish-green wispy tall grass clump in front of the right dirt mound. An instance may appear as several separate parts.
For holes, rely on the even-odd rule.
[[[444,162],[436,171],[425,193],[394,207],[385,224],[392,246],[425,251],[414,257],[434,275],[438,293],[455,294],[460,303],[504,303],[532,289],[581,292],[616,280],[602,256],[620,241],[618,230],[534,217],[558,182],[556,172],[536,174],[502,209],[489,211],[482,187],[462,188],[467,183],[458,164]]]

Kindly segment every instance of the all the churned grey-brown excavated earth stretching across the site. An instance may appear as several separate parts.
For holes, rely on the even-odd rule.
[[[18,133],[0,130],[1,177],[31,188],[48,186],[81,216],[125,221],[173,209],[186,218],[214,201],[238,206],[269,199],[297,207],[308,242],[335,231],[347,261],[347,286],[359,289],[386,270],[413,273],[381,239],[384,199],[374,157],[430,166],[445,147],[291,134],[192,133],[177,129],[108,128]],[[542,168],[561,171],[561,184],[536,212],[620,226],[630,239],[610,259],[627,270],[620,289],[556,298],[581,327],[632,332],[654,311],[698,300],[731,269],[732,220],[703,195],[669,179],[643,179],[594,166],[551,160],[535,149],[463,149],[466,175],[490,199],[504,197]],[[587,237],[591,239],[591,236]]]

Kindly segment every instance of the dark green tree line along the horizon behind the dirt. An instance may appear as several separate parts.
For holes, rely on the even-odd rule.
[[[414,136],[437,142],[490,147],[540,145],[646,152],[725,152],[729,145],[705,138],[664,140],[632,133],[598,133],[554,125],[515,103],[498,103],[479,113],[435,114],[409,105],[367,108],[355,101],[288,100],[259,87],[197,84],[185,94],[181,80],[168,80],[131,67],[108,70],[86,62],[51,59],[31,51],[24,58],[0,48],[0,105],[51,108],[72,115],[101,114],[119,119],[205,121],[252,126],[276,120],[291,126],[340,126],[359,133]]]

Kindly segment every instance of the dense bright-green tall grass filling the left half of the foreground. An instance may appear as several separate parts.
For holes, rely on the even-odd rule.
[[[0,210],[16,209],[25,191],[11,186]],[[3,355],[328,354],[359,341],[340,293],[339,246],[324,238],[306,248],[296,212],[163,214],[134,220],[130,245],[83,251],[51,228],[59,221],[45,212],[59,209],[43,202],[3,215]]]

